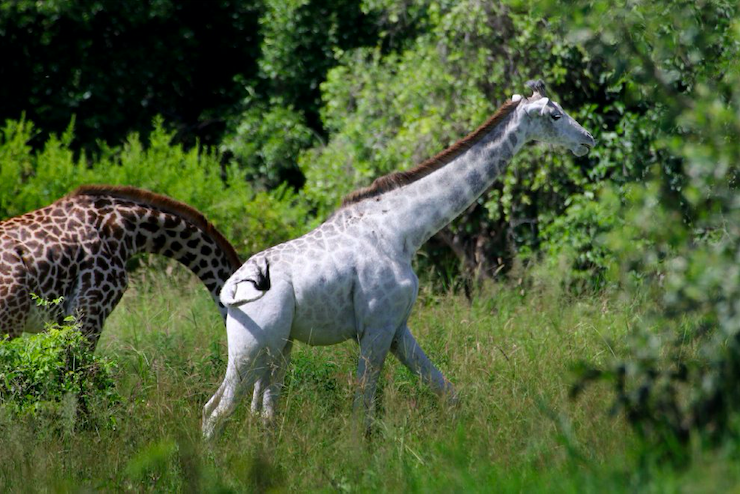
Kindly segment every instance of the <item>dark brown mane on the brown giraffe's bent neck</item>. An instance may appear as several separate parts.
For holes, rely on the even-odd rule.
[[[162,194],[156,194],[145,189],[128,185],[82,185],[75,189],[68,197],[73,196],[112,196],[119,199],[130,199],[141,202],[167,213],[174,214],[192,222],[203,230],[224,251],[231,266],[236,270],[242,265],[234,246],[226,237],[205,217],[203,213],[184,202],[177,201]]]

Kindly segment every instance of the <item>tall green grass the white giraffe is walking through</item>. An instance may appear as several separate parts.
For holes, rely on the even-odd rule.
[[[245,403],[208,447],[200,414],[225,370],[221,319],[180,271],[134,278],[97,350],[119,364],[113,420],[60,435],[0,414],[2,490],[693,492],[740,480],[712,458],[686,473],[638,468],[639,441],[609,415],[607,389],[569,399],[574,363],[618,354],[645,301],[570,297],[546,283],[491,286],[472,304],[423,292],[412,331],[457,385],[459,406],[389,357],[365,440],[352,416],[356,345],[299,344],[274,430]],[[697,484],[696,469],[712,483]]]

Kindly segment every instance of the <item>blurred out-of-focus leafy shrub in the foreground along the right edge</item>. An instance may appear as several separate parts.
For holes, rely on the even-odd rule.
[[[713,0],[588,8],[608,11],[608,27],[593,15],[573,29],[639,82],[630,97],[654,105],[653,154],[663,166],[625,194],[624,221],[610,234],[610,247],[624,286],[650,287],[660,307],[636,329],[624,356],[585,366],[576,390],[592,380],[611,383],[617,409],[651,449],[671,457],[685,457],[694,437],[737,444],[740,74],[728,70],[740,54],[737,6]],[[683,358],[687,343],[698,348],[696,361]]]

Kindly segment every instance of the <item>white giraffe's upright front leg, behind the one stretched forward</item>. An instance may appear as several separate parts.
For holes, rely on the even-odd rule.
[[[357,364],[355,413],[363,413],[365,432],[370,431],[375,409],[375,390],[385,357],[393,341],[393,331],[366,329],[360,339],[360,359]]]

